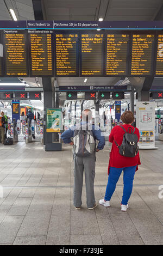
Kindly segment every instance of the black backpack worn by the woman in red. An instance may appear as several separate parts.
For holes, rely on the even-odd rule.
[[[128,156],[128,157],[134,157],[137,155],[137,152],[138,152],[138,145],[137,145],[137,142],[138,142],[138,137],[136,134],[134,134],[135,132],[135,128],[134,130],[132,131],[132,128],[129,127],[128,128],[128,131],[126,132],[126,130],[124,129],[123,126],[120,126],[122,127],[122,129],[125,131],[124,135],[123,135],[123,141],[122,141],[122,144],[121,146],[119,146],[116,141],[116,145],[119,149],[119,153],[120,155],[122,156]],[[129,133],[129,129],[131,129],[131,133]]]

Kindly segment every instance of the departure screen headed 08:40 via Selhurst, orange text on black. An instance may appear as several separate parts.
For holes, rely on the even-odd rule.
[[[152,48],[154,34],[133,34],[131,75],[152,74]]]

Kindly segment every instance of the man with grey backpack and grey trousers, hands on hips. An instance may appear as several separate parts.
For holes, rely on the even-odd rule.
[[[82,205],[84,171],[87,208],[92,210],[97,206],[94,193],[96,152],[104,148],[105,138],[101,135],[101,130],[95,125],[92,125],[91,119],[92,112],[90,109],[85,109],[82,112],[81,126],[72,126],[69,130],[64,131],[61,135],[64,143],[69,143],[74,146],[73,205],[77,210],[80,210]],[[74,139],[74,142],[71,141],[71,138],[73,137],[76,138]],[[99,141],[97,148],[96,139]],[[80,153],[80,151],[83,152],[83,155]]]

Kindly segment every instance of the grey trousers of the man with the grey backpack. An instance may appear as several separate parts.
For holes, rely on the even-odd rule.
[[[86,204],[87,208],[92,208],[96,203],[94,193],[96,153],[93,153],[92,155],[86,157],[79,157],[76,155],[74,155],[73,157],[73,205],[76,207],[80,207],[82,205],[83,173],[85,172]]]

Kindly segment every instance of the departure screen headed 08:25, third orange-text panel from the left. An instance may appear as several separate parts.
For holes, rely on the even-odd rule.
[[[55,34],[55,76],[79,76],[78,34]]]

